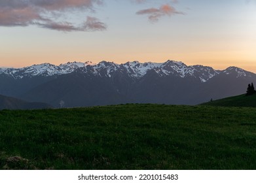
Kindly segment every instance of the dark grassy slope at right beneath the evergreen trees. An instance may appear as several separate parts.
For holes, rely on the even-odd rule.
[[[202,103],[201,105],[222,106],[222,107],[256,107],[256,95],[237,95],[225,99]]]

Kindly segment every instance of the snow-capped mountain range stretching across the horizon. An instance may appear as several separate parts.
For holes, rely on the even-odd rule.
[[[53,107],[120,103],[196,105],[246,92],[254,73],[238,67],[223,71],[180,61],[122,64],[101,61],[43,63],[0,68],[0,94]]]

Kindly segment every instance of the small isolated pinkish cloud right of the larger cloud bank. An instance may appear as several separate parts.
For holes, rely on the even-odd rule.
[[[147,15],[149,21],[157,22],[162,16],[171,16],[174,14],[184,14],[184,12],[177,11],[174,7],[166,4],[160,8],[147,8],[136,12],[138,15]]]

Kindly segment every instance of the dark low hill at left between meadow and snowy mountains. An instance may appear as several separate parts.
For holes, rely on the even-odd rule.
[[[14,97],[7,97],[0,95],[0,110],[2,109],[40,109],[40,108],[52,108],[52,106],[46,103],[29,103],[22,101]]]

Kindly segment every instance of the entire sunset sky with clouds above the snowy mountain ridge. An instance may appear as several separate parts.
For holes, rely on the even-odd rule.
[[[0,67],[168,59],[256,73],[255,0],[1,0]]]

